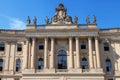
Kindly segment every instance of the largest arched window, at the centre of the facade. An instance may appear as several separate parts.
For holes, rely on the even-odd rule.
[[[58,52],[57,65],[58,69],[67,69],[67,53],[65,50]]]

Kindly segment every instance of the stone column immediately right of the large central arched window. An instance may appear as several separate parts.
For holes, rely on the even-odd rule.
[[[73,68],[72,37],[69,37],[69,68]]]

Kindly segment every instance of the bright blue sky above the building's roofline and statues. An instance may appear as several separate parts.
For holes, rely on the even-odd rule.
[[[0,29],[25,29],[27,16],[38,24],[55,15],[55,8],[63,3],[68,15],[77,16],[84,24],[89,15],[97,16],[98,28],[120,28],[120,0],[0,0]]]

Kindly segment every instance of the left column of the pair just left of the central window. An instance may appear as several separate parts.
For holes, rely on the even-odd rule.
[[[45,38],[45,48],[44,48],[44,69],[47,68],[47,56],[48,56],[48,38]]]

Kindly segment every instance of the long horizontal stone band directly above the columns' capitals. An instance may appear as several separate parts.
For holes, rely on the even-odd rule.
[[[98,36],[98,32],[28,32],[27,37]]]

